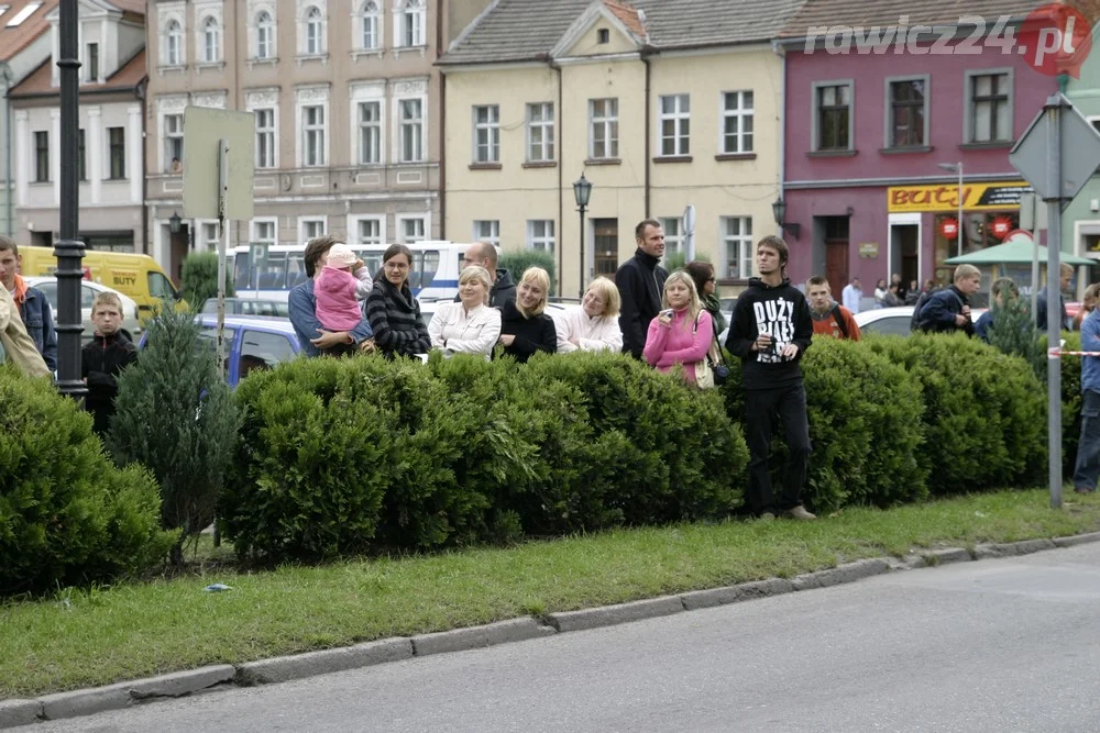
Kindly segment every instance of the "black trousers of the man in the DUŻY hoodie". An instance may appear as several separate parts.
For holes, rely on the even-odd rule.
[[[776,501],[768,470],[772,425],[783,422],[790,456],[783,474],[783,488]],[[781,389],[745,390],[745,442],[749,446],[749,508],[755,514],[785,511],[802,503],[802,485],[810,460],[810,420],[806,417],[806,390],[802,385]]]

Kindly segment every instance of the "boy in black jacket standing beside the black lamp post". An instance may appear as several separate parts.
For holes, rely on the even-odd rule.
[[[101,292],[91,304],[96,335],[80,352],[80,371],[88,385],[85,406],[92,414],[92,429],[106,435],[119,392],[116,377],[138,360],[138,348],[121,333],[122,301],[113,292]]]

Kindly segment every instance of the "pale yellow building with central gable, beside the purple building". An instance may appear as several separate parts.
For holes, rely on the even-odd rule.
[[[783,60],[768,25],[688,48],[695,34],[678,38],[675,23],[689,4],[563,0],[514,51],[493,51],[493,35],[504,43],[522,19],[491,10],[458,38],[440,62],[448,236],[552,252],[561,295],[575,297],[632,256],[642,219],[662,222],[667,257],[684,252],[691,204],[695,256],[730,292],[744,287],[754,243],[779,233]]]

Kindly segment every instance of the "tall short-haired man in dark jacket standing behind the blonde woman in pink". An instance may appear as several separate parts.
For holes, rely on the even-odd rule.
[[[638,249],[615,273],[615,285],[623,304],[619,308],[619,330],[623,352],[641,358],[646,347],[649,322],[661,310],[661,293],[669,274],[661,267],[664,256],[664,230],[654,219],[647,219],[634,229]]]

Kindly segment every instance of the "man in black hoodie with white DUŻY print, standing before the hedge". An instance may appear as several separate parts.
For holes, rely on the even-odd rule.
[[[806,298],[787,277],[790,249],[778,236],[757,244],[757,270],[737,298],[726,348],[741,358],[745,386],[745,441],[749,447],[749,507],[760,519],[778,512],[792,519],[816,519],[802,506],[810,458],[810,421],[802,386],[802,355],[814,333]],[[776,500],[768,470],[772,422],[783,422],[790,454],[783,490]]]

